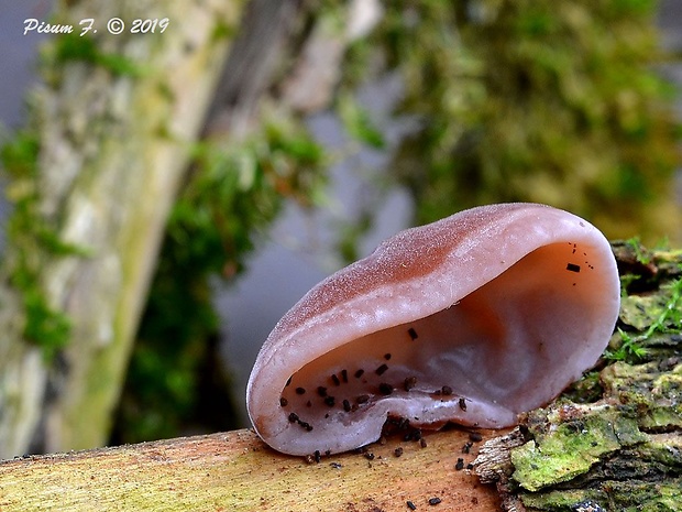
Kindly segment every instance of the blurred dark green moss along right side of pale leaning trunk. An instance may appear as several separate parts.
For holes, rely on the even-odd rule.
[[[254,235],[267,228],[285,197],[314,204],[324,183],[324,157],[288,118],[266,123],[239,144],[197,145],[142,319],[117,442],[173,437],[198,420],[212,429],[237,426],[229,379],[219,364],[207,369],[218,358],[210,281],[230,280],[244,269]]]

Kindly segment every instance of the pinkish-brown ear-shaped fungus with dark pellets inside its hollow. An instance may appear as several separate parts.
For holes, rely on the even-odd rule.
[[[510,426],[595,363],[618,307],[610,246],[590,222],[535,204],[473,208],[310,290],[258,353],[249,414],[293,455],[358,448],[389,417]]]

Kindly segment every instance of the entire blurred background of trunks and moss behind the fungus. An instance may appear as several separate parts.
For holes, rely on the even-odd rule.
[[[472,206],[682,242],[679,0],[0,0],[0,47],[1,457],[248,426],[302,294]]]

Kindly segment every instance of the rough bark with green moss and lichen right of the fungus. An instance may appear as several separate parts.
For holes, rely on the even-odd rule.
[[[526,443],[512,449],[508,476],[526,510],[672,511],[682,502],[682,324],[675,316],[682,254],[630,244],[616,255],[622,270],[650,273],[620,314],[629,339],[646,353],[605,360],[598,381],[588,374],[522,417]],[[578,390],[593,400],[572,402]]]

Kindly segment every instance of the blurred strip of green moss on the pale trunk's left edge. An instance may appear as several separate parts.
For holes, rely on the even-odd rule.
[[[2,170],[9,177],[8,197],[13,211],[7,222],[8,241],[15,247],[14,259],[8,261],[10,284],[22,297],[23,337],[43,349],[47,360],[69,339],[70,322],[52,307],[45,297],[40,269],[46,258],[82,253],[62,241],[52,226],[37,211],[36,160],[40,150],[35,133],[19,132],[0,149]]]

